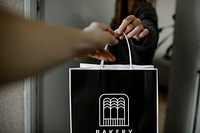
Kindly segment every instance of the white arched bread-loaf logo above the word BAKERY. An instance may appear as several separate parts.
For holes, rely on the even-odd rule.
[[[99,97],[99,126],[129,126],[129,97],[123,93]]]

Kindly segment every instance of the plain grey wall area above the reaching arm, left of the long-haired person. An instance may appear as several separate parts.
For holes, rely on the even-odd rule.
[[[42,18],[48,23],[84,28],[92,21],[109,24],[115,0],[44,0]]]

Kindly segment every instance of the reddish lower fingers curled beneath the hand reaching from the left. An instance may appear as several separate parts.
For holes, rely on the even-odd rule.
[[[111,61],[111,62],[115,61],[116,59],[111,53],[109,53],[104,49],[96,50],[95,52],[89,54],[88,56],[94,59]]]

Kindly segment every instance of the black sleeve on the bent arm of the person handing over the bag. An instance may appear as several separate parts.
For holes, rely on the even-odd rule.
[[[151,64],[158,43],[158,19],[155,9],[149,4],[143,4],[135,11],[149,34],[142,40],[130,39],[133,62],[136,64]]]

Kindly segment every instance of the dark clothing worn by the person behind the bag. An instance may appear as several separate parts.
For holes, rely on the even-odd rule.
[[[155,9],[149,4],[141,4],[133,13],[140,18],[149,34],[142,40],[129,39],[133,64],[151,64],[158,42],[158,24]],[[127,15],[128,16],[128,15]],[[118,27],[115,27],[118,28]],[[114,64],[128,64],[128,47],[126,40],[119,40],[119,44],[109,47],[109,51],[116,57]]]

